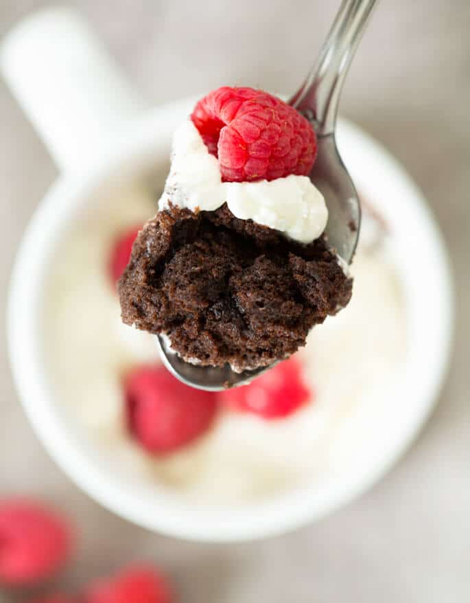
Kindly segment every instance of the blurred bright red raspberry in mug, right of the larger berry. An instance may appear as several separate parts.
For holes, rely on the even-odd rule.
[[[303,383],[301,364],[294,358],[279,363],[249,385],[220,394],[231,407],[265,419],[290,415],[310,398],[312,392]]]

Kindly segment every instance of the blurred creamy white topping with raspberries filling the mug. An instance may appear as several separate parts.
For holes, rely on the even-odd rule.
[[[181,395],[154,337],[119,317],[115,280],[154,207],[139,191],[97,199],[64,237],[46,285],[49,379],[110,470],[211,505],[320,484],[348,466],[386,412],[384,390],[406,357],[405,301],[384,225],[365,212],[353,298],[305,348],[248,386],[200,398],[191,388]]]

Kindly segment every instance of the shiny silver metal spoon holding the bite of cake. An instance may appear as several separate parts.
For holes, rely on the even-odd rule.
[[[329,245],[349,264],[357,245],[361,211],[353,181],[336,146],[336,117],[346,73],[376,2],[342,1],[316,65],[289,101],[307,117],[316,132],[318,155],[309,177],[325,196],[329,214],[325,234]],[[180,381],[196,389],[221,391],[246,385],[277,364],[242,373],[236,373],[230,365],[201,367],[181,359],[165,336],[158,335],[156,339],[165,367]]]

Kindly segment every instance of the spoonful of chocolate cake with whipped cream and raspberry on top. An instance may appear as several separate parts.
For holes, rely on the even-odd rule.
[[[312,126],[279,98],[223,87],[200,100],[119,282],[124,322],[165,334],[185,361],[237,372],[305,345],[352,289],[323,234],[315,157]]]

